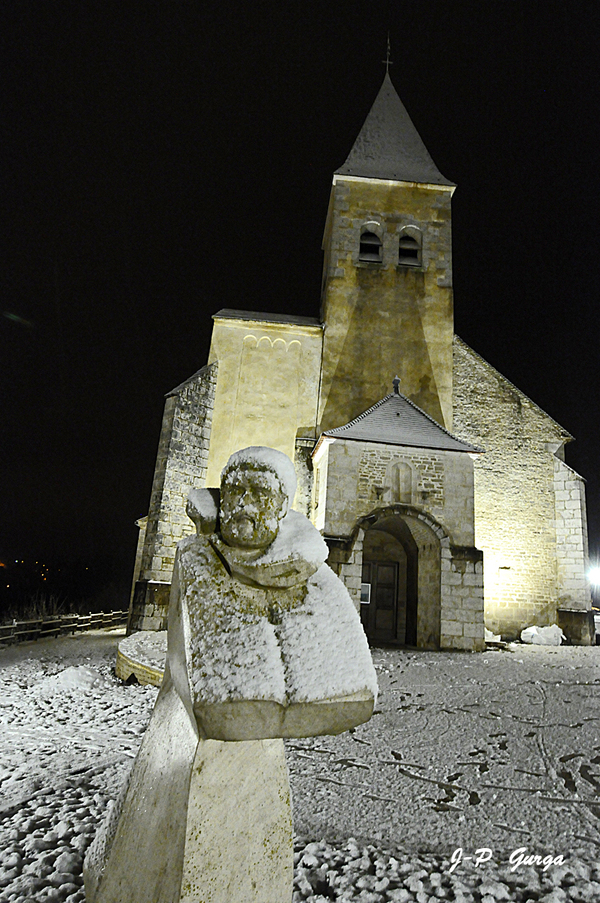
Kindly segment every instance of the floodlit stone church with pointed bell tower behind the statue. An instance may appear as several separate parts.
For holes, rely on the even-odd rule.
[[[386,74],[333,176],[320,318],[219,310],[207,365],[167,396],[130,630],[166,626],[189,489],[267,445],[372,641],[479,650],[484,624],[557,622],[591,642],[572,437],[454,334],[454,189]]]

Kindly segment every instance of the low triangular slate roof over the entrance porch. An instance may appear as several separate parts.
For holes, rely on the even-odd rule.
[[[435,448],[440,451],[459,452],[483,451],[476,445],[457,439],[416,404],[395,392],[386,395],[350,423],[327,430],[323,435],[333,439],[385,442],[387,445],[404,445],[410,448]]]

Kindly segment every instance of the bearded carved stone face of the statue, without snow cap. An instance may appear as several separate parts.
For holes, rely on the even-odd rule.
[[[238,467],[221,485],[221,536],[229,546],[262,549],[270,545],[287,511],[287,496],[275,474]]]

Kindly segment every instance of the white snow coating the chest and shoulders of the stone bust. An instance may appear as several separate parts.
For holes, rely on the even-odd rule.
[[[294,522],[302,521],[295,532],[308,533],[312,543],[318,532],[303,515]],[[289,705],[366,690],[376,695],[360,619],[331,569],[321,564],[306,584],[273,590],[256,584],[270,579],[279,559],[273,556],[267,566],[260,562],[252,564],[251,586],[227,573],[208,540],[188,537],[179,544],[175,568],[183,618],[190,625],[186,656],[194,701]]]

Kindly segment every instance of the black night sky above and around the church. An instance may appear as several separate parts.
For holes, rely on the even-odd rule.
[[[600,551],[597,0],[57,0],[0,12],[2,560],[126,586],[211,314],[319,315],[331,176],[388,29],[458,185],[456,332],[576,437]]]

